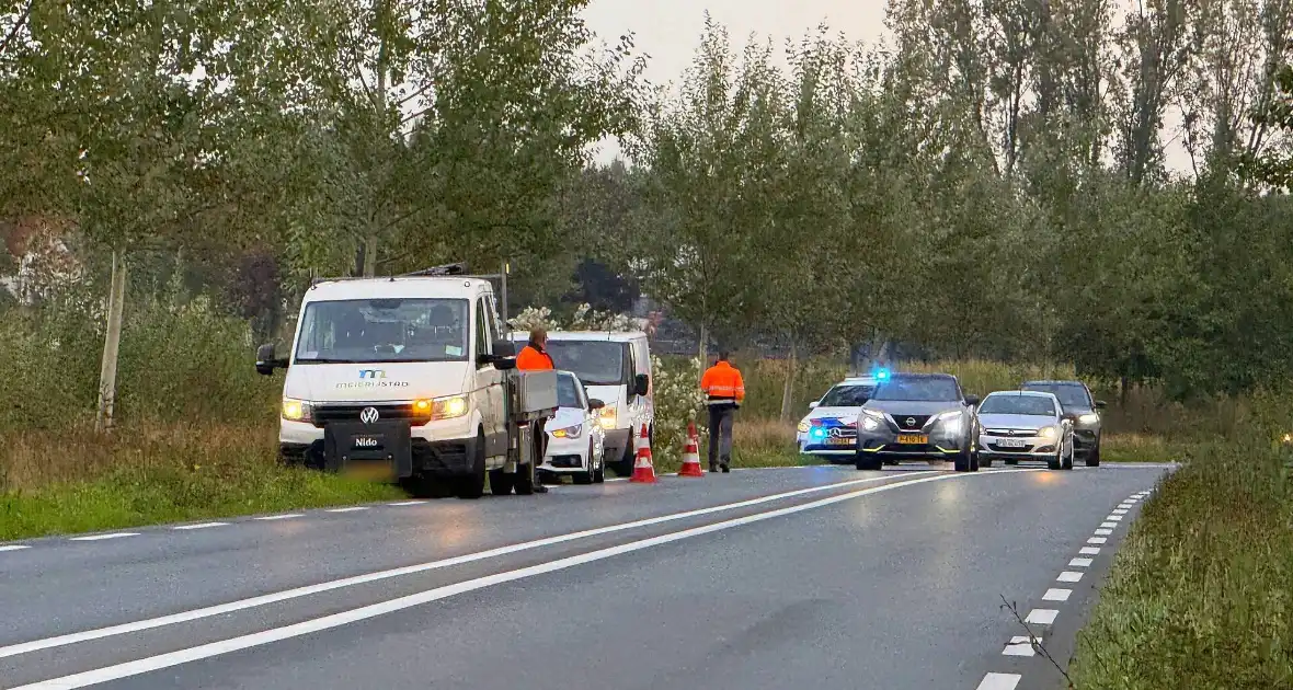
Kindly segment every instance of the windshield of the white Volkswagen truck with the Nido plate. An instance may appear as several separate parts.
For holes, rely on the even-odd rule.
[[[310,302],[295,363],[465,362],[468,332],[467,300]]]

